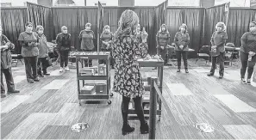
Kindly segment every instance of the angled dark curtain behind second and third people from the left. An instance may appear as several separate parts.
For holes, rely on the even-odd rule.
[[[34,24],[34,29],[37,25],[41,25],[44,27],[44,34],[47,36],[47,41],[52,41],[53,33],[52,33],[52,9],[37,5],[34,3],[28,3],[28,21],[31,21]]]

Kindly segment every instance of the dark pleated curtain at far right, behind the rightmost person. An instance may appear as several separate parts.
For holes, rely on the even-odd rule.
[[[249,31],[249,23],[256,21],[256,9],[229,9],[228,42],[240,47],[240,38]]]

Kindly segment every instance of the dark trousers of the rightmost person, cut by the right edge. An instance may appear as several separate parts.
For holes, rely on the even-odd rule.
[[[253,68],[256,62],[256,55],[253,56],[252,61],[248,61],[248,53],[240,52],[240,77],[245,78],[247,72],[247,79],[251,79],[253,75]]]

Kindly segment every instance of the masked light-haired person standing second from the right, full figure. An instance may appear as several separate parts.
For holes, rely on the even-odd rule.
[[[219,78],[224,76],[224,59],[225,59],[225,43],[228,40],[228,35],[225,31],[225,23],[218,22],[215,26],[216,31],[211,36],[211,49],[215,52],[215,57],[212,57],[211,70],[207,76],[214,76],[217,58],[220,63]]]

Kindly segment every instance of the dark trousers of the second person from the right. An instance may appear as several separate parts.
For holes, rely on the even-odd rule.
[[[210,73],[211,74],[215,74],[217,58],[218,58],[218,61],[219,61],[219,64],[220,64],[219,75],[220,76],[224,76],[225,52],[220,52],[220,55],[218,55],[216,57],[212,57]]]

